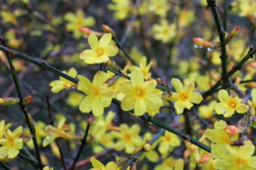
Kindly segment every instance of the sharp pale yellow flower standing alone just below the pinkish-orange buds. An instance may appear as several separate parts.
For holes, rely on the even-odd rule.
[[[80,59],[84,59],[84,62],[87,64],[108,61],[109,57],[115,56],[118,52],[118,48],[115,45],[109,45],[111,39],[111,33],[104,34],[99,41],[95,34],[90,34],[88,43],[92,49],[86,49],[81,52]]]

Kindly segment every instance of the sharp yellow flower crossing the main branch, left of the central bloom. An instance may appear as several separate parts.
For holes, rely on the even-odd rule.
[[[77,89],[87,94],[81,101],[79,110],[82,113],[92,111],[94,116],[102,115],[104,108],[111,104],[113,98],[113,91],[107,87],[107,84],[104,84],[108,79],[107,74],[98,71],[93,78],[93,83],[84,76],[78,75],[77,77],[80,79]]]

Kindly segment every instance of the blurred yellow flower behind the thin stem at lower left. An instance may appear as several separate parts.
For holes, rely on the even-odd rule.
[[[45,123],[44,122],[41,122],[40,120],[38,122],[35,123],[35,138],[38,142],[38,145],[41,145],[42,143],[42,137],[46,137],[47,136],[47,133],[45,132]],[[24,135],[29,135],[30,134],[30,131],[28,128],[25,128],[24,129]],[[33,149],[34,148],[34,143],[33,143],[33,140],[30,139],[28,142],[26,142],[26,145]]]

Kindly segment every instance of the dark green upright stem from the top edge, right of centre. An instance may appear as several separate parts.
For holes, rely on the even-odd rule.
[[[207,0],[208,6],[212,9],[212,14],[218,28],[219,39],[221,43],[221,68],[222,68],[222,77],[227,74],[227,54],[226,54],[226,44],[225,44],[225,31],[221,26],[221,21],[218,15],[218,10],[216,7],[215,0]]]

